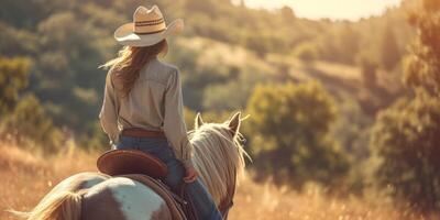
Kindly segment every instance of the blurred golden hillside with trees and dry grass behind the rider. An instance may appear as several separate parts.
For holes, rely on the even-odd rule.
[[[179,69],[188,129],[197,112],[207,122],[250,116],[240,131],[253,163],[233,218],[440,210],[438,0],[402,0],[355,22],[230,0],[2,0],[0,143],[16,144],[0,144],[1,206],[32,207],[95,169],[109,145],[99,66],[118,56],[113,32],[140,4],[157,4],[168,24],[185,20],[160,59]]]

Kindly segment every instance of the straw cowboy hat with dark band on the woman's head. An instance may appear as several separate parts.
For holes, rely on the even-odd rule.
[[[184,21],[182,19],[166,25],[157,6],[153,6],[151,9],[138,7],[133,14],[133,22],[118,28],[114,38],[124,46],[151,46],[183,30]]]

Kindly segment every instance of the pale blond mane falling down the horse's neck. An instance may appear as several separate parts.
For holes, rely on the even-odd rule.
[[[232,134],[227,123],[204,123],[189,132],[194,146],[193,161],[199,177],[216,205],[227,198],[231,187],[244,174],[243,136],[237,131]]]

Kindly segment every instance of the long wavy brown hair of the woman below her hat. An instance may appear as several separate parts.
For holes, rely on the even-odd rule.
[[[119,89],[122,96],[125,97],[133,89],[141,68],[157,55],[166,54],[167,48],[168,43],[166,40],[151,46],[124,46],[118,53],[117,58],[107,62],[100,67],[112,69],[114,73],[112,77],[116,77],[121,82]]]

